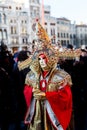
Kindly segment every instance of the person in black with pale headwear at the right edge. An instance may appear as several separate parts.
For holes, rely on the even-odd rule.
[[[72,72],[75,130],[87,130],[87,48],[84,45]]]

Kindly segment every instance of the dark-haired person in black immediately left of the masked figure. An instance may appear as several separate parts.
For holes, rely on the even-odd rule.
[[[26,125],[24,124],[24,116],[26,112],[26,102],[23,94],[24,83],[26,74],[29,72],[29,67],[19,71],[18,62],[26,60],[30,55],[30,52],[21,50],[16,53],[15,58],[17,59],[16,66],[13,69],[13,79],[15,86],[15,97],[16,97],[16,129],[15,130],[26,130]]]

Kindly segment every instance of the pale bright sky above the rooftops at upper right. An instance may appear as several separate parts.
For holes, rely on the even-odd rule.
[[[16,1],[25,1],[28,5],[29,0]],[[72,22],[87,24],[87,0],[44,0],[44,4],[51,6],[51,16],[66,17]]]

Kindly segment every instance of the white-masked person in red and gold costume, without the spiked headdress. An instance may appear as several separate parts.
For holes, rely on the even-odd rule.
[[[69,125],[72,81],[67,72],[57,68],[57,61],[48,48],[34,54],[24,89],[28,130],[66,130]]]

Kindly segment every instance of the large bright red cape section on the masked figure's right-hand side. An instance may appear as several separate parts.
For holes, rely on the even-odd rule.
[[[72,93],[70,86],[66,85],[58,92],[46,92],[49,101],[60,124],[66,130],[69,125],[72,113]]]

